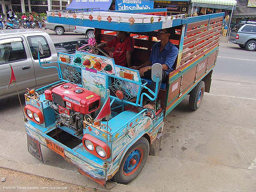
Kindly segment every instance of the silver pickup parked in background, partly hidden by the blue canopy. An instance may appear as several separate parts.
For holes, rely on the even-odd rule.
[[[73,25],[55,24],[45,22],[45,29],[55,31],[56,35],[63,35],[67,31],[73,31],[75,33],[82,33],[86,35],[86,38],[94,37],[94,28],[90,27],[78,27]]]

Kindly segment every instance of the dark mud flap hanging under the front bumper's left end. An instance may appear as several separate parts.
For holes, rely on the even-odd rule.
[[[30,137],[28,134],[27,134],[27,141],[28,141],[28,152],[33,157],[35,157],[36,159],[44,163],[44,159],[42,159],[41,144],[37,140]]]

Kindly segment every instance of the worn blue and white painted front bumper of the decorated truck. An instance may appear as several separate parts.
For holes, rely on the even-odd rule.
[[[82,143],[77,145],[74,148],[69,148],[66,145],[58,142],[57,140],[53,139],[52,137],[48,136],[46,133],[41,132],[40,130],[36,129],[30,123],[25,123],[26,132],[30,137],[37,140],[40,144],[47,147],[46,139],[51,141],[52,143],[60,146],[63,148],[65,153],[65,160],[68,162],[75,164],[79,172],[82,175],[86,175],[90,179],[96,181],[97,183],[101,184],[105,187],[106,183],[106,169],[104,164],[104,160],[95,157],[93,154],[87,152],[87,150],[83,147]],[[44,130],[42,130],[44,131]]]

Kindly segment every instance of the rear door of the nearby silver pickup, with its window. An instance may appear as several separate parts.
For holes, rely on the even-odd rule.
[[[48,37],[48,38],[46,38]],[[57,61],[57,53],[52,40],[48,34],[46,35],[33,35],[28,36],[28,43],[31,52],[31,58],[35,68],[36,87],[42,87],[51,82],[58,80],[58,73],[56,69],[42,69],[38,60],[38,41],[41,42],[44,54],[40,54],[40,60],[42,61]],[[48,40],[49,42],[48,42]],[[42,64],[44,67],[57,66],[57,62]]]

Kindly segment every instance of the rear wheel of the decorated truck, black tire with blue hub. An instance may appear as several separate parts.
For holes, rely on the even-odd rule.
[[[203,99],[204,96],[204,81],[200,81],[197,86],[190,92],[189,95],[189,108],[193,111],[196,111]]]

